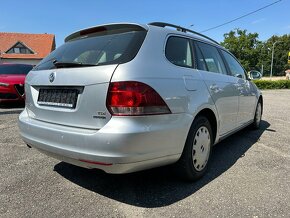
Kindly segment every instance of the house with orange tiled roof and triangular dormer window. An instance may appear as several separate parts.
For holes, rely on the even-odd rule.
[[[36,65],[54,49],[53,34],[0,32],[0,63]]]

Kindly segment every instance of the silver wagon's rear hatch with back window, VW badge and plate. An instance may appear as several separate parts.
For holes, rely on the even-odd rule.
[[[73,127],[100,129],[111,118],[106,108],[109,82],[119,64],[138,53],[146,30],[111,24],[82,30],[43,59],[26,77],[31,118]]]

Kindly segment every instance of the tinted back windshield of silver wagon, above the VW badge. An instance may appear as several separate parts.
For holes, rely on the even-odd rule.
[[[82,32],[84,35],[68,40],[44,58],[34,70],[54,69],[55,62],[79,63],[83,66],[125,63],[136,56],[146,36],[146,31],[141,28]]]

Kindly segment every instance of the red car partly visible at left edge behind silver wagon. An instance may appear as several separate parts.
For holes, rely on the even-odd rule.
[[[0,103],[24,102],[24,82],[33,65],[0,64]]]

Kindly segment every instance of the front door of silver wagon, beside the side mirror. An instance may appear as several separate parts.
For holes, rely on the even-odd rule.
[[[235,84],[236,92],[239,95],[237,125],[242,126],[253,119],[256,96],[241,64],[230,53],[224,50],[221,52],[230,71],[230,80]]]

